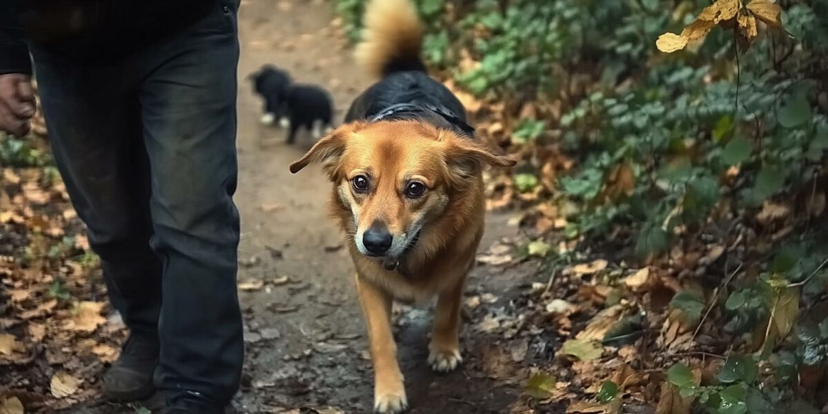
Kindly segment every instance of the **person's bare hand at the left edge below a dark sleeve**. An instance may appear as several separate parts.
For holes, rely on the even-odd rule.
[[[35,94],[28,75],[0,75],[0,131],[16,137],[31,129],[29,119],[35,114]]]

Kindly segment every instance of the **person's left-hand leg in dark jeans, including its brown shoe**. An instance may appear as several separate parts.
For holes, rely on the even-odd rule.
[[[154,391],[161,261],[149,245],[149,173],[137,96],[118,69],[90,68],[34,51],[55,163],[89,244],[101,258],[113,306],[131,335],[104,376],[108,397]]]

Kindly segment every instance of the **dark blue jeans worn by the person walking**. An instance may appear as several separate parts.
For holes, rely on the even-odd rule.
[[[236,290],[235,0],[105,65],[32,48],[55,161],[109,297],[159,335],[168,397],[228,402],[243,363]],[[163,298],[163,299],[162,299]]]

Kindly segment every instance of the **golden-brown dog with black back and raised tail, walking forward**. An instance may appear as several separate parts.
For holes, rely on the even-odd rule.
[[[291,164],[321,161],[331,207],[349,238],[368,325],[376,412],[407,407],[391,330],[393,299],[438,296],[428,362],[460,363],[460,304],[484,229],[481,168],[513,166],[474,142],[465,110],[420,60],[421,28],[408,0],[373,0],[358,58],[381,79],[345,124]]]

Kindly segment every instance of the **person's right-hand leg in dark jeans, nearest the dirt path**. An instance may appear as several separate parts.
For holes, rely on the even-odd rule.
[[[135,60],[148,74],[139,101],[152,176],[152,246],[164,268],[156,383],[174,407],[181,400],[224,405],[241,375],[237,64],[233,2]]]

